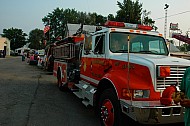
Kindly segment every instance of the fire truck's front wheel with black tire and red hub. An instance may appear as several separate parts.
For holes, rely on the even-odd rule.
[[[113,89],[102,92],[98,103],[98,113],[102,126],[121,126],[121,106]]]

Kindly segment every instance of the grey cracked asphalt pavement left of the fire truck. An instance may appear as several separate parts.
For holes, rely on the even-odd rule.
[[[99,126],[92,108],[21,57],[0,58],[0,126]]]

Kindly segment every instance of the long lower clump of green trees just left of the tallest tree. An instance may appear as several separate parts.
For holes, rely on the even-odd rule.
[[[98,15],[97,13],[87,14],[76,11],[75,9],[63,10],[59,8],[56,8],[52,13],[49,13],[42,19],[45,26],[50,26],[50,31],[46,34],[46,39],[49,40],[49,43],[57,41],[57,38],[67,36],[67,23],[103,25],[106,20],[106,17]]]

